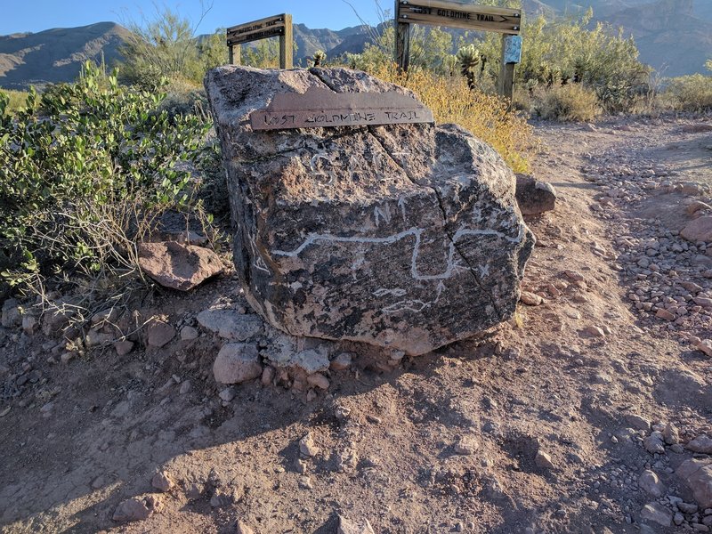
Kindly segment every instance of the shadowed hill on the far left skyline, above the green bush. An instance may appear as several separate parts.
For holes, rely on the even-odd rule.
[[[101,61],[102,53],[107,64],[120,59],[117,48],[129,35],[115,22],[97,22],[0,36],[0,86],[27,89],[73,80],[86,60]]]

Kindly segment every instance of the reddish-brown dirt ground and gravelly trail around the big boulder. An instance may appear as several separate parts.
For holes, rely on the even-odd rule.
[[[695,124],[712,118],[538,124],[534,174],[559,199],[527,221],[523,286],[544,303],[398,365],[356,358],[326,392],[256,379],[218,396],[223,340],[195,318],[250,312],[231,274],[144,303],[201,333],[162,348],[65,363],[58,338],[0,329],[0,531],[332,533],[337,514],[382,533],[708,531],[702,510],[680,526],[642,515],[693,502],[674,471],[712,436],[712,359],[687,341],[712,337],[712,310],[683,286],[712,296],[712,247],[677,235],[686,204],[710,200],[712,133],[684,132]],[[649,452],[667,424],[679,443]],[[158,471],[175,483],[162,510],[113,521],[160,493]]]

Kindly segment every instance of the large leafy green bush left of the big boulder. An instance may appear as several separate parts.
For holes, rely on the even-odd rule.
[[[209,223],[188,164],[199,161],[210,124],[159,111],[164,96],[118,85],[116,71],[87,62],[76,83],[44,94],[42,114],[32,91],[26,110],[0,119],[6,282],[44,294],[48,280],[108,287],[120,276],[125,287],[141,277],[136,242],[161,214]],[[7,103],[0,95],[0,117]]]

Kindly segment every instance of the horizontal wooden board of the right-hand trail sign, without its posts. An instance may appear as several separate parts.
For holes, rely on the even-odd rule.
[[[442,0],[399,0],[396,20],[405,24],[428,24],[518,35],[522,10],[459,4]]]

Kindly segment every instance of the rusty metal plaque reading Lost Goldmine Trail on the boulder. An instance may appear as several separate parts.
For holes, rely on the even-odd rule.
[[[265,109],[253,111],[253,130],[433,123],[433,113],[407,94],[334,93],[312,87],[306,93],[277,93]]]

